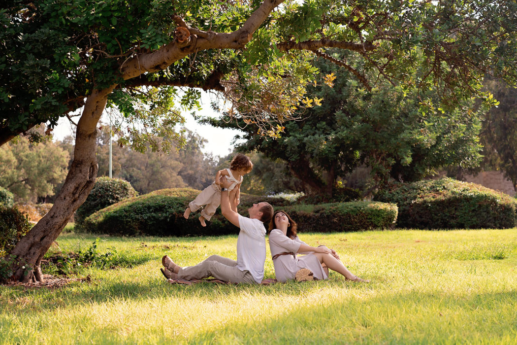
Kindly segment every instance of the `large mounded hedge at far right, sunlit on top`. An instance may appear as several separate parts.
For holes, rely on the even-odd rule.
[[[517,200],[453,178],[392,184],[377,201],[399,206],[397,226],[416,229],[504,229],[517,224]]]

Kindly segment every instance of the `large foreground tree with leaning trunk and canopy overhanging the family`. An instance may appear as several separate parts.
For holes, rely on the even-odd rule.
[[[11,0],[0,10],[0,144],[84,106],[54,207],[11,252],[19,259],[14,279],[41,280],[41,258],[93,187],[97,123],[107,105],[150,120],[162,137],[180,121],[168,111],[174,86],[187,87],[180,101],[187,107],[202,87],[233,100],[232,116],[267,131],[271,119],[297,116],[293,107],[315,71],[309,60],[328,58],[328,47],[361,59],[356,68],[332,61],[367,88],[375,79],[364,71],[373,69],[393,83],[418,74],[409,80],[436,87],[445,106],[488,99],[478,87],[485,72],[515,81],[516,7],[502,0]],[[22,267],[31,267],[25,278]]]

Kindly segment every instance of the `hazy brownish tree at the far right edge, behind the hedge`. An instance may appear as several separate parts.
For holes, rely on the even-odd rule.
[[[517,191],[517,91],[500,80],[487,79],[485,86],[499,101],[483,119],[481,143],[483,165],[502,170]]]

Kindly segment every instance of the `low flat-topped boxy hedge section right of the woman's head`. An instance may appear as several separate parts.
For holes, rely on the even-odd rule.
[[[397,221],[397,205],[383,202],[352,201],[283,208],[300,232],[347,232],[390,229]]]

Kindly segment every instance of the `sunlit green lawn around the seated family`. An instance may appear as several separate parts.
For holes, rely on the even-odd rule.
[[[517,343],[517,229],[301,234],[335,248],[371,283],[270,286],[166,283],[181,265],[235,258],[236,236],[101,237],[131,268],[80,271],[92,281],[60,289],[0,287],[0,344],[69,343]],[[95,236],[66,233],[63,251]],[[51,251],[58,249],[52,247]],[[268,251],[266,278],[274,271]]]

